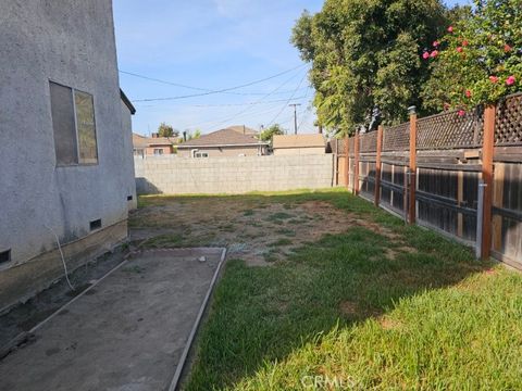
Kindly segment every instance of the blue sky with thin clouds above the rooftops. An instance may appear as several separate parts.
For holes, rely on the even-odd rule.
[[[113,3],[120,84],[137,109],[135,133],[150,135],[163,122],[203,134],[275,123],[294,133],[290,103],[300,104],[298,133],[316,131],[309,65],[289,39],[302,10],[318,12],[323,0]]]

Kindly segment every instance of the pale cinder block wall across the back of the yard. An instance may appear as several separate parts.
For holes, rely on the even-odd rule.
[[[136,157],[139,194],[215,194],[333,186],[334,155]]]

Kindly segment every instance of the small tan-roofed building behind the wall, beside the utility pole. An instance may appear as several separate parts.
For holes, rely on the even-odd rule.
[[[323,135],[282,135],[274,136],[272,149],[274,155],[299,155],[326,153]]]

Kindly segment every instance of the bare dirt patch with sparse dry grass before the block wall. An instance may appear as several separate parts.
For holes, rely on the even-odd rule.
[[[229,258],[251,266],[284,261],[325,234],[355,226],[398,239],[390,230],[324,201],[171,198],[138,210],[130,219],[132,240],[141,248],[226,247]]]

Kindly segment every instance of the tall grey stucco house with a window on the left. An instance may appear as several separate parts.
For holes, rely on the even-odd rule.
[[[2,0],[0,48],[2,312],[126,240],[136,189],[112,1]]]

